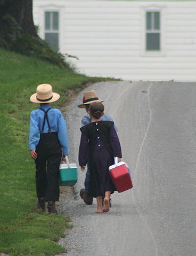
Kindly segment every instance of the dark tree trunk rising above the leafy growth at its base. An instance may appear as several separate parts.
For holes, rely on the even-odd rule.
[[[1,17],[9,14],[17,21],[22,34],[38,36],[32,17],[32,0],[6,0],[0,9]]]

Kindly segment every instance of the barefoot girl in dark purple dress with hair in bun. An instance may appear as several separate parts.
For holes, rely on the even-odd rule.
[[[110,210],[110,195],[116,188],[112,183],[109,166],[114,164],[114,157],[120,161],[121,147],[113,122],[102,121],[104,106],[93,102],[89,106],[92,122],[80,128],[79,165],[84,171],[88,162],[90,169],[89,196],[96,197],[96,213]],[[102,206],[102,198],[103,206]]]

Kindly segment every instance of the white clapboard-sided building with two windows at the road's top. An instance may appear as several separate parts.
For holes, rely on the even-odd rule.
[[[34,0],[34,22],[80,73],[196,81],[196,1]]]

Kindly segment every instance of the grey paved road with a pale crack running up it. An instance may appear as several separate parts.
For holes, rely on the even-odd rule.
[[[75,196],[61,212],[74,228],[60,243],[68,256],[196,255],[196,83],[105,82],[88,88],[104,99],[119,129],[134,188],[112,195],[109,213],[95,214]],[[67,107],[70,159],[77,161],[81,92]]]

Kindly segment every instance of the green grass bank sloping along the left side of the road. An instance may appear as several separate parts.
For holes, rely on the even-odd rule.
[[[68,91],[99,77],[68,73],[36,58],[0,49],[0,253],[44,256],[64,252],[55,242],[64,236],[70,220],[36,210],[35,164],[28,148],[29,115],[38,104],[29,102],[41,83],[50,83],[61,95],[53,107],[69,102]]]

